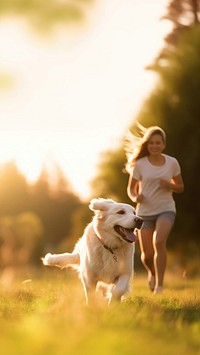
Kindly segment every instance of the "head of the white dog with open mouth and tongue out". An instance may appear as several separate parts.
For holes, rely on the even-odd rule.
[[[100,222],[96,223],[98,229],[129,243],[137,240],[134,230],[141,228],[143,220],[131,205],[99,198],[91,200],[89,208],[95,212],[96,222]]]

